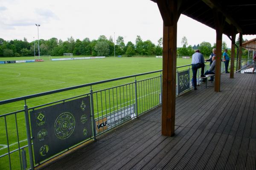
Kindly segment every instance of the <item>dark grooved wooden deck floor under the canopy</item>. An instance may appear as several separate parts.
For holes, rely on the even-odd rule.
[[[221,92],[177,97],[175,122],[162,136],[158,107],[41,169],[256,169],[256,75],[222,74]]]

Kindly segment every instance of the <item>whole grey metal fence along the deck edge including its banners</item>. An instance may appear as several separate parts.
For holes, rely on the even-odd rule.
[[[205,71],[208,69],[209,64]],[[200,72],[199,69],[198,84],[202,82]],[[120,83],[131,78],[134,81]],[[0,101],[1,110],[16,105],[22,107],[0,115],[0,169],[33,170],[45,161],[158,107],[162,103],[162,79],[162,70],[157,70]],[[108,82],[115,82],[116,86],[96,88]],[[177,67],[176,82],[176,96],[192,88],[192,65]],[[67,97],[64,93],[72,94],[72,90],[77,89],[83,89],[80,95]],[[61,93],[64,93],[61,100],[42,104],[43,99],[54,100]]]

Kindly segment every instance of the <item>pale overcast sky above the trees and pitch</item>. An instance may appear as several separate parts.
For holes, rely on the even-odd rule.
[[[157,4],[151,0],[0,0],[0,37],[13,40],[26,37],[49,39],[56,37],[67,40],[98,39],[123,36],[125,43],[135,42],[140,35],[143,40],[157,40],[163,37],[163,20]],[[189,45],[202,41],[215,43],[215,30],[181,15],[178,21],[177,46],[186,36]],[[244,35],[248,40],[253,35]],[[237,38],[237,37],[236,37]],[[231,41],[223,35],[228,47]]]

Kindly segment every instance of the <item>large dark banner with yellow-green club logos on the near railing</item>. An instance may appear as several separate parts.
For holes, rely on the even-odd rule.
[[[90,138],[90,96],[30,112],[35,163]]]

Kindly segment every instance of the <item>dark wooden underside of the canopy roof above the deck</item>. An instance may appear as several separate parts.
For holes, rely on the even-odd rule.
[[[157,2],[158,0],[152,0]],[[162,1],[162,0],[161,0]],[[256,34],[256,1],[252,0],[177,0],[181,14],[215,29],[214,10],[225,17],[223,33],[231,36],[231,28],[243,35]],[[188,26],[189,27],[189,26]]]

